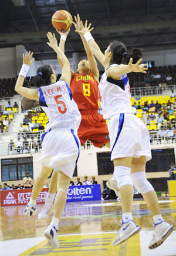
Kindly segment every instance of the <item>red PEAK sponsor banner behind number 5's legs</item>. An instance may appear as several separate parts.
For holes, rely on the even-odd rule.
[[[43,188],[37,198],[37,204],[45,204],[49,188]],[[32,189],[1,190],[1,206],[26,205],[32,195]]]

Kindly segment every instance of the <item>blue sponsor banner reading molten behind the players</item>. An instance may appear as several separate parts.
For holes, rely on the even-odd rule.
[[[67,202],[101,200],[100,184],[70,186],[67,192]]]

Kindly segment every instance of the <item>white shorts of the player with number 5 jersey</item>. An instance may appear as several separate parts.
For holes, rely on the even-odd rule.
[[[41,136],[42,165],[62,171],[69,178],[73,177],[80,152],[80,140],[77,131],[72,129],[52,129]]]

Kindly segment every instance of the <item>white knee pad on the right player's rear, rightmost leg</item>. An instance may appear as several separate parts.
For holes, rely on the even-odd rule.
[[[131,179],[133,181],[134,187],[137,188],[140,194],[145,194],[154,190],[150,182],[147,181],[145,177],[145,172],[134,172],[133,174],[131,174]]]

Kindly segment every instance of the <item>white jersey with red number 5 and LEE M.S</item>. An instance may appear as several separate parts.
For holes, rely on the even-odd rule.
[[[65,81],[40,87],[39,104],[49,120],[45,128],[46,132],[51,128],[75,130],[79,128],[82,117]]]

